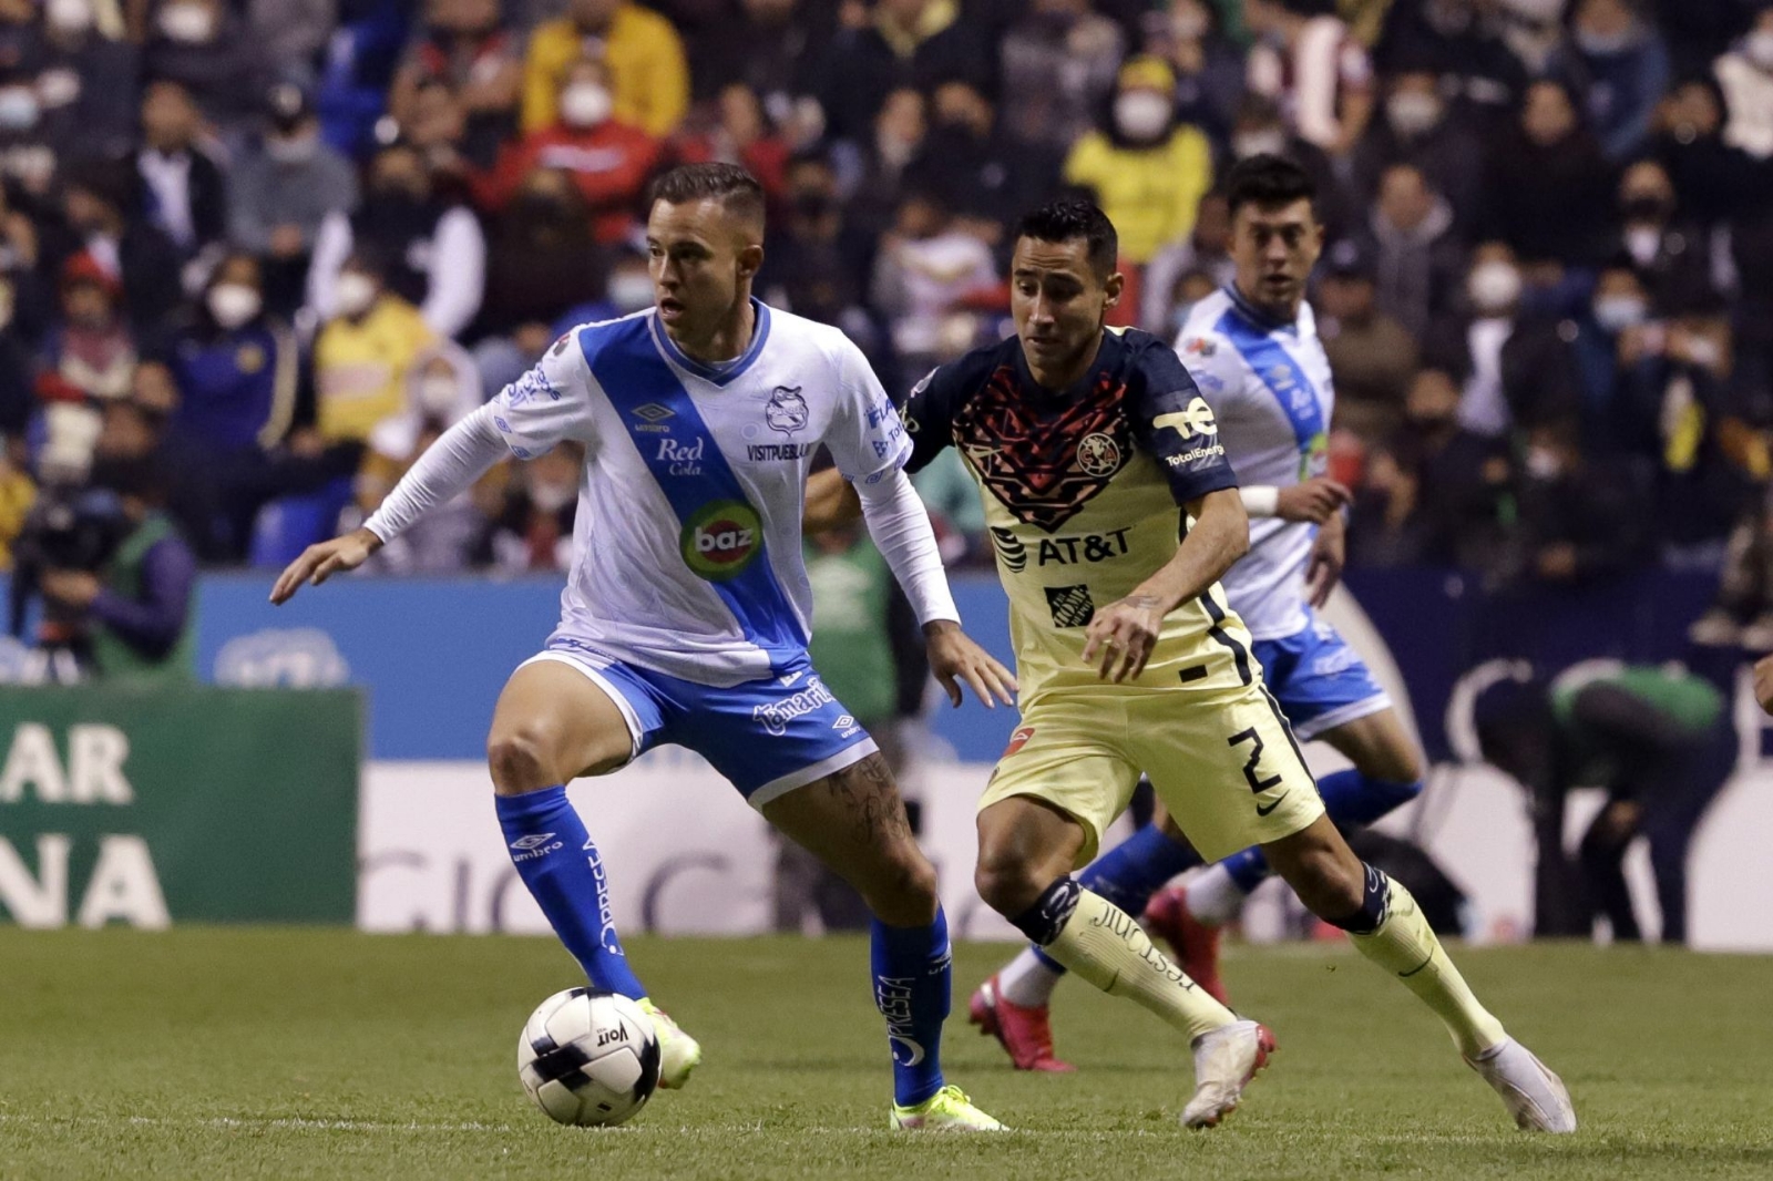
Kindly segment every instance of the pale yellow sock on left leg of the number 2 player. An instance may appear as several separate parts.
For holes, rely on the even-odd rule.
[[[1041,950],[1110,997],[1151,1009],[1190,1043],[1238,1020],[1152,947],[1131,915],[1101,894],[1082,890],[1058,938]]]

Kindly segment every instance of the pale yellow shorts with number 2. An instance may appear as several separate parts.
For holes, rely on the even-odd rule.
[[[1289,837],[1324,814],[1300,747],[1261,677],[1190,688],[1041,693],[979,800],[1034,796],[1083,825],[1078,865],[1126,809],[1138,775],[1207,862]]]

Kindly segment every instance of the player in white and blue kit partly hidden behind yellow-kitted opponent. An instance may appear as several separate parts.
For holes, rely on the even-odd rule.
[[[1195,303],[1175,342],[1213,406],[1250,514],[1250,553],[1222,583],[1294,734],[1321,738],[1355,764],[1317,780],[1330,819],[1371,825],[1420,794],[1422,763],[1390,697],[1314,610],[1342,571],[1347,502],[1347,489],[1324,475],[1335,392],[1305,301],[1321,248],[1316,188],[1291,160],[1252,156],[1230,170],[1227,200],[1236,278]],[[1145,927],[1174,945],[1183,970],[1227,1000],[1218,931],[1269,867],[1250,848],[1188,887],[1163,888],[1199,862],[1174,823],[1160,821],[1097,858],[1082,881],[1129,913],[1144,911]],[[1062,975],[1030,947],[973,993],[973,1023],[995,1034],[1019,1069],[1071,1069],[1053,1053],[1048,1020]]]

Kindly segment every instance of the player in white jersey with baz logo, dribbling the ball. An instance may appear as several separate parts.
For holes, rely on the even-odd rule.
[[[837,328],[752,298],[764,200],[732,165],[688,165],[652,192],[656,309],[574,328],[450,427],[363,528],[312,546],[271,592],[353,569],[505,454],[585,447],[560,626],[505,684],[488,738],[495,803],[523,883],[598,988],[642,1002],[661,1085],[700,1059],[622,954],[603,864],[564,784],[677,743],[702,754],[782,833],[874,911],[872,986],[894,1064],[894,1128],[1000,1130],[940,1066],[949,1013],[936,872],[867,732],[807,660],[807,470],[823,443],[862,498],[936,677],[1011,704],[1014,679],[959,630],[911,442]]]

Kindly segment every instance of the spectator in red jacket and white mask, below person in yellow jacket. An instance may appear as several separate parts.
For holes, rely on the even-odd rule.
[[[621,241],[633,231],[663,144],[615,117],[608,83],[603,62],[587,59],[573,66],[555,103],[557,122],[500,153],[498,167],[475,184],[480,206],[496,213],[527,176],[551,170],[573,179],[598,241]]]

